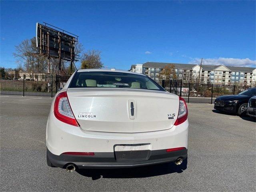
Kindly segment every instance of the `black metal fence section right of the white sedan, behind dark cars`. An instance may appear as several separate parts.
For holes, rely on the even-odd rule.
[[[251,86],[183,83],[182,80],[162,80],[168,92],[183,97],[186,102],[212,104],[218,96],[238,94]]]

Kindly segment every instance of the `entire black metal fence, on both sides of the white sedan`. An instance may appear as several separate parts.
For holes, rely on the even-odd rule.
[[[0,77],[0,94],[53,97],[64,87],[70,76],[6,74]],[[169,92],[183,97],[186,102],[213,103],[221,95],[233,95],[250,86],[183,83],[182,80],[162,81]]]

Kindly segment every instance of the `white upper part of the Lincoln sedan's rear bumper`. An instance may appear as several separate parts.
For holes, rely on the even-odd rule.
[[[150,144],[149,150],[188,148],[188,120],[168,130],[113,133],[85,131],[49,116],[46,128],[46,146],[54,155],[64,152],[114,152],[116,145]]]

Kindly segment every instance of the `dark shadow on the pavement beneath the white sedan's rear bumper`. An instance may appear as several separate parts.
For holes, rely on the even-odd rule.
[[[137,168],[120,169],[79,169],[77,172],[83,176],[91,177],[92,180],[102,178],[143,178],[152,177],[174,172],[181,173],[187,168],[185,160],[180,166],[174,163],[165,163],[152,166],[142,166]]]

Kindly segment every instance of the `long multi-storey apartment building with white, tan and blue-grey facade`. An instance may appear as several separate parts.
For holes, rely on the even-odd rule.
[[[160,72],[167,64],[174,64],[178,79],[183,82],[198,82],[205,84],[243,84],[256,85],[256,68],[224,65],[200,65],[146,62],[132,65],[130,71],[145,74],[159,82]]]

